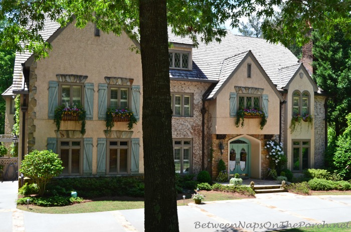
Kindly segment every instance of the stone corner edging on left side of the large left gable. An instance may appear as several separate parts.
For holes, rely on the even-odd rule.
[[[35,145],[34,132],[36,131],[35,119],[37,118],[37,113],[35,112],[35,107],[37,106],[37,99],[35,95],[37,94],[37,87],[35,86],[37,82],[37,74],[35,69],[37,68],[37,62],[33,62],[30,67],[29,72],[29,101],[28,101],[28,141],[27,141],[27,152],[31,152]]]

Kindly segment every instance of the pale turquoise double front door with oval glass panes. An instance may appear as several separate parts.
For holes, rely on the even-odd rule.
[[[249,176],[250,144],[237,139],[229,146],[229,173],[234,176],[239,173],[241,176]]]

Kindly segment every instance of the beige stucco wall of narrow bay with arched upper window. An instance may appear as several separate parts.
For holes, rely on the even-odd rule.
[[[303,77],[300,78],[299,73],[304,72],[302,69],[299,69],[296,72],[296,75],[292,77],[292,80],[289,84],[288,93],[285,95],[285,100],[287,103],[285,104],[285,118],[284,120],[284,147],[285,153],[287,154],[288,163],[287,167],[292,169],[292,139],[310,139],[310,159],[309,159],[309,166],[314,167],[314,126],[308,126],[308,122],[301,122],[301,126],[297,125],[294,132],[291,133],[291,129],[289,128],[292,118],[292,94],[295,90],[299,90],[301,93],[303,91],[308,91],[310,94],[310,114],[314,117],[314,89],[313,85],[311,84],[310,80],[307,78],[306,72],[304,72]]]

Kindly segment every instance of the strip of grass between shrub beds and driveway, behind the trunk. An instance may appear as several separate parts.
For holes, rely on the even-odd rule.
[[[195,191],[189,191],[187,193],[178,194],[177,205],[187,205],[190,202],[194,202],[191,199],[192,194]],[[233,199],[243,199],[249,198],[245,195],[240,195],[238,193],[228,193],[219,191],[199,191],[199,193],[205,195],[203,201],[214,201],[214,200],[233,200]],[[183,203],[183,195],[186,199]],[[100,197],[96,199],[84,200],[82,203],[76,203],[67,206],[57,206],[57,207],[42,207],[34,204],[30,204],[27,209],[27,205],[18,204],[17,208],[38,213],[82,213],[82,212],[101,212],[101,211],[112,211],[112,210],[122,210],[122,209],[133,209],[133,208],[143,208],[144,199],[141,197],[128,197],[128,196],[116,196],[116,197]]]

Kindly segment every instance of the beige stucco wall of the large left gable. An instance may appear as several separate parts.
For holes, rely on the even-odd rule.
[[[34,149],[46,149],[47,137],[56,137],[56,126],[48,119],[49,80],[56,74],[87,75],[85,82],[94,83],[93,120],[86,121],[84,137],[93,138],[93,174],[97,168],[97,138],[104,138],[105,121],[98,120],[98,84],[106,83],[105,76],[132,78],[133,85],[140,85],[140,115],[142,114],[142,74],[140,54],[128,48],[134,43],[122,33],[101,32],[94,36],[94,25],[84,29],[69,24],[52,42],[49,57],[34,62],[30,72],[30,104],[28,128],[33,134]],[[32,122],[33,121],[33,122]],[[80,130],[80,122],[62,121],[61,130]],[[127,122],[115,123],[112,130],[128,130]],[[143,172],[141,117],[131,137],[140,138],[139,172]],[[31,139],[29,139],[31,140]],[[32,139],[33,140],[33,139]]]

